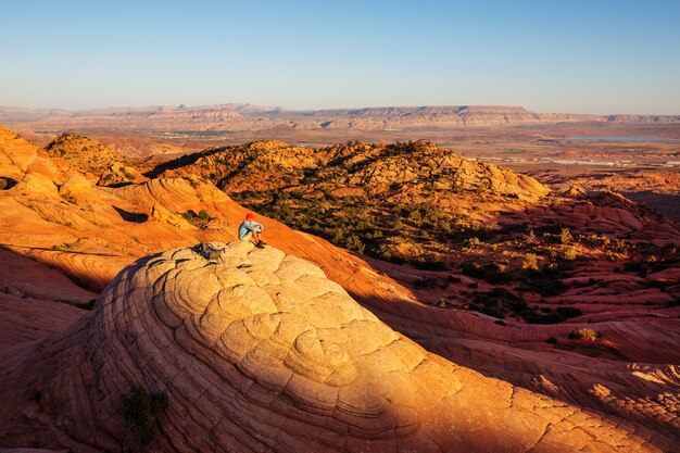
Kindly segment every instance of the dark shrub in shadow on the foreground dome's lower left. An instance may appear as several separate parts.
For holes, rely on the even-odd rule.
[[[159,429],[159,417],[167,408],[167,394],[151,393],[143,386],[134,386],[121,397],[121,403],[126,420],[124,451],[151,443]]]

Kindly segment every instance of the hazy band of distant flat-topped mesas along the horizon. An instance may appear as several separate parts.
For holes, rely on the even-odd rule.
[[[84,111],[0,106],[0,123],[17,129],[146,131],[297,129],[426,130],[557,123],[680,124],[680,115],[536,113],[522,106],[423,105],[287,110],[253,104],[109,108]]]

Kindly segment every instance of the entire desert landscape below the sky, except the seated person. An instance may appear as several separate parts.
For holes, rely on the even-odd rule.
[[[3,452],[680,451],[680,116],[0,124]]]

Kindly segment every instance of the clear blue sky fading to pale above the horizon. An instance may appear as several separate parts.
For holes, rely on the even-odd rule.
[[[680,114],[680,1],[0,3],[0,105]]]

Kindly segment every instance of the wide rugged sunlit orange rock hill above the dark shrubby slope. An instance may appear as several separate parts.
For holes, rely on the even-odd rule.
[[[159,165],[153,174],[198,176],[229,193],[286,189],[411,203],[450,204],[459,192],[534,200],[550,191],[531,177],[459,158],[425,141],[348,143],[320,150],[260,141],[186,155]]]

